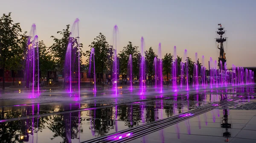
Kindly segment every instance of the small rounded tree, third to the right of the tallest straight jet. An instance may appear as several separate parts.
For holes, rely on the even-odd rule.
[[[162,62],[163,62],[163,74],[167,76],[167,81],[169,81],[168,74],[171,72],[172,62],[173,62],[172,54],[166,53],[166,55],[164,55],[164,58],[162,59]]]

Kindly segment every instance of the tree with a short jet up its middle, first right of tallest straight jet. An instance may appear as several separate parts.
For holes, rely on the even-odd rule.
[[[129,56],[132,56],[132,71],[134,75],[137,75],[139,73],[139,50],[137,46],[133,46],[131,42],[128,42],[128,45],[123,48],[121,53],[118,54],[120,63],[119,63],[119,71],[121,74],[126,74],[127,73],[127,65],[128,65],[128,60]],[[131,77],[133,78],[133,77]]]

